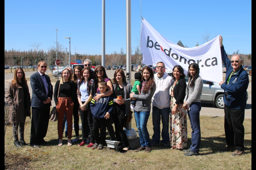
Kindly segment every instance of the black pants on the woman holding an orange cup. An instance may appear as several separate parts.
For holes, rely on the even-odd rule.
[[[117,141],[119,142],[123,141],[125,146],[129,146],[126,133],[123,131],[123,126],[126,123],[126,119],[127,119],[127,116],[125,116],[125,118],[118,118],[117,116],[115,116],[114,118],[115,136],[117,137]]]

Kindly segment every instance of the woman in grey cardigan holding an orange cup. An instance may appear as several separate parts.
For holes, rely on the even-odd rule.
[[[114,86],[114,124],[115,124],[115,135],[117,141],[123,141],[125,146],[123,150],[127,151],[129,147],[128,139],[123,131],[123,126],[126,123],[127,117],[130,111],[130,93],[131,84],[126,82],[125,73],[121,69],[117,69],[114,73],[113,78]],[[118,98],[118,97],[119,98]],[[122,96],[122,97],[121,97]],[[121,99],[120,99],[121,98]],[[130,115],[129,115],[130,116]],[[122,143],[119,143],[119,148],[122,147]]]

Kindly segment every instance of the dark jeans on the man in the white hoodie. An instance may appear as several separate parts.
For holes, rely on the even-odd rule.
[[[169,136],[169,117],[170,107],[159,109],[158,107],[152,107],[152,121],[154,134],[152,140],[155,143],[160,143],[160,121],[162,119],[162,143],[170,143]]]

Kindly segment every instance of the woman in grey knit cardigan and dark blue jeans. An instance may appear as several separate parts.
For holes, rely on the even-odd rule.
[[[192,144],[189,149],[183,150],[187,153],[184,155],[192,156],[198,155],[200,143],[201,143],[201,129],[200,129],[200,111],[201,102],[200,97],[202,95],[203,80],[199,76],[199,66],[197,63],[191,63],[189,70],[187,71],[187,77],[189,77],[189,83],[187,86],[187,95],[184,99],[183,108],[187,110],[187,115],[191,124],[191,141]]]

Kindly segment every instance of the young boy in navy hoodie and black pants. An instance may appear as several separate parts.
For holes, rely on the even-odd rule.
[[[107,82],[101,80],[98,83],[99,93],[105,93]],[[96,94],[94,95],[96,96]],[[92,149],[102,150],[106,140],[106,125],[109,124],[110,114],[113,112],[113,98],[101,97],[99,100],[91,100],[91,114],[93,115],[93,135],[95,143]],[[99,129],[101,133],[99,135]]]

